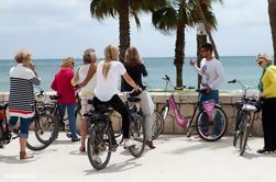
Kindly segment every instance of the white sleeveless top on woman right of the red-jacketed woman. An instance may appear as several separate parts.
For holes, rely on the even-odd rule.
[[[77,72],[78,72],[78,77],[79,77],[79,81],[78,82],[82,82],[86,79],[86,76],[88,73],[90,64],[87,65],[81,65]],[[89,80],[89,82],[80,89],[80,96],[81,99],[91,99],[93,96],[93,90],[96,88],[96,73],[93,75],[93,77],[91,78],[91,80]]]

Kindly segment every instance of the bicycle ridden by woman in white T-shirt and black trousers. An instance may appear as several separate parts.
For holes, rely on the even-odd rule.
[[[130,112],[130,135],[135,141],[135,146],[129,147],[128,150],[133,157],[139,158],[145,147],[144,121],[137,114],[135,106],[129,107],[128,105],[128,109]],[[96,110],[90,110],[85,114],[90,122],[87,140],[88,158],[97,170],[108,166],[111,152],[114,152],[119,146],[112,127],[112,112],[113,110],[108,109],[107,105],[98,105]]]

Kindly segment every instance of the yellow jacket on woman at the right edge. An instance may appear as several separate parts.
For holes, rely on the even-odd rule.
[[[263,78],[264,98],[276,98],[276,66],[269,66]]]

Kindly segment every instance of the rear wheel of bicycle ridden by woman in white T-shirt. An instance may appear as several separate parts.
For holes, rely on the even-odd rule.
[[[95,169],[101,170],[108,166],[111,158],[111,144],[110,133],[99,133],[97,126],[93,125],[87,140],[87,152],[88,159]]]

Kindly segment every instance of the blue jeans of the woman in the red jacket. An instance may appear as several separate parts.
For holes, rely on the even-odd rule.
[[[76,140],[78,139],[77,136],[77,126],[76,126],[76,120],[75,120],[75,107],[76,104],[63,104],[59,103],[59,111],[60,111],[60,115],[64,116],[65,115],[65,110],[67,109],[67,115],[68,115],[68,120],[69,120],[69,127],[70,127],[70,133],[71,133],[71,139]]]

